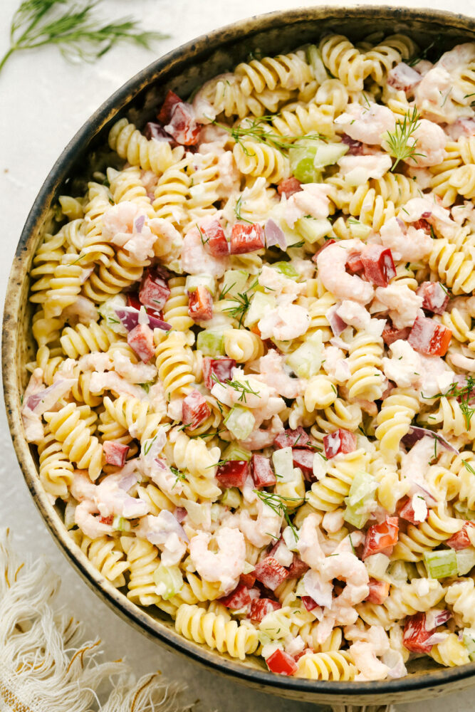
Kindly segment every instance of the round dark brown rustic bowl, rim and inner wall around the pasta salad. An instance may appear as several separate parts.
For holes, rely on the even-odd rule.
[[[387,704],[449,693],[475,682],[475,662],[441,668],[424,658],[414,661],[409,666],[409,675],[399,680],[325,682],[274,675],[258,659],[242,663],[189,642],[175,632],[172,620],[159,609],[140,608],[127,600],[125,594],[110,585],[73,543],[60,511],[51,504],[41,487],[38,457],[28,446],[21,424],[20,394],[26,382],[25,364],[34,357],[35,350],[28,303],[28,275],[33,255],[48,230],[51,206],[65,191],[66,180],[90,171],[90,156],[96,155],[97,148],[107,142],[112,122],[126,115],[142,127],[152,120],[169,89],[186,98],[204,81],[245,61],[256,48],[261,48],[266,55],[275,55],[306,42],[318,41],[329,32],[345,34],[353,41],[359,41],[375,31],[408,33],[422,47],[437,39],[441,48],[451,48],[455,43],[475,38],[475,23],[469,17],[447,12],[382,6],[352,9],[321,6],[276,12],[197,38],[135,75],[85,122],[51,169],[31,208],[16,249],[4,312],[4,392],[16,454],[36,506],[53,537],[88,585],[130,624],[197,663],[257,689],[287,698],[330,704]]]

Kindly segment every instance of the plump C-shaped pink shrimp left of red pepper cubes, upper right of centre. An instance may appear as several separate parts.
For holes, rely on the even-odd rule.
[[[340,299],[353,299],[362,304],[372,300],[375,292],[369,282],[363,282],[357,275],[350,275],[345,270],[348,258],[348,249],[355,248],[363,251],[364,245],[360,240],[346,240],[345,248],[338,244],[329,245],[317,257],[318,276],[325,289],[332,292]],[[259,328],[261,328],[259,326]],[[293,337],[292,337],[293,338]]]

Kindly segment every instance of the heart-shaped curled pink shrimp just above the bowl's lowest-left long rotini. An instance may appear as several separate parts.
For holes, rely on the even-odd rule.
[[[239,582],[246,564],[246,542],[239,529],[222,527],[214,539],[217,552],[209,550],[212,535],[198,532],[189,543],[189,557],[199,575],[206,581],[219,581],[224,593]]]

